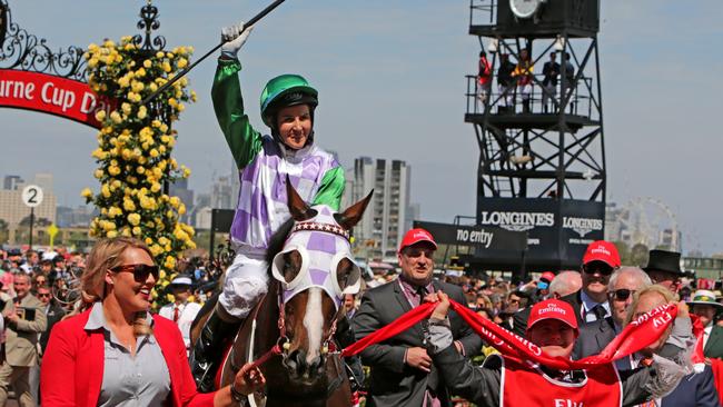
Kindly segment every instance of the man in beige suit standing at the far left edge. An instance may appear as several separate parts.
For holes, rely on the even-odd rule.
[[[0,406],[8,400],[8,387],[18,395],[20,406],[34,406],[30,394],[30,367],[38,364],[38,334],[46,330],[44,306],[30,294],[30,276],[14,275],[16,298],[2,310],[7,330],[6,360],[0,367]]]

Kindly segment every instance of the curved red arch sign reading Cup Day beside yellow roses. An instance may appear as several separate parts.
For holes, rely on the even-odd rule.
[[[0,69],[0,107],[43,111],[100,128],[98,110],[110,110],[88,83],[47,73]]]

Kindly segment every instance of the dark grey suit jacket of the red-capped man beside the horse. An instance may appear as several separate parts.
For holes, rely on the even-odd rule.
[[[434,288],[444,290],[459,304],[466,304],[462,288],[457,286],[435,280]],[[353,328],[356,340],[390,324],[410,309],[412,306],[397,280],[366,291],[354,316]],[[455,340],[463,344],[465,354],[467,356],[479,354],[482,339],[456,312],[449,314],[449,321],[453,336]],[[404,363],[407,348],[424,347],[422,324],[384,343],[373,345],[361,353],[361,361],[372,368],[367,406],[419,407],[427,387],[440,398],[443,406],[449,405],[447,391],[443,380],[436,376],[434,366],[432,373],[426,374]]]

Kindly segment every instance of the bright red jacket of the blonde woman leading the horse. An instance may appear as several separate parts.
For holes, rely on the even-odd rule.
[[[42,357],[40,388],[43,407],[98,405],[103,380],[103,332],[83,329],[90,309],[56,324]],[[186,345],[174,321],[153,315],[153,336],[170,376],[170,406],[212,406],[214,393],[199,394],[191,376]]]

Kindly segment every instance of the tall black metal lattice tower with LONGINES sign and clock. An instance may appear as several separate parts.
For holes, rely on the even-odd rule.
[[[467,77],[465,121],[479,147],[477,224],[527,231],[528,250],[522,265],[499,251],[465,261],[577,268],[587,244],[603,238],[605,216],[600,2],[471,0],[469,20],[491,66],[486,78]],[[545,80],[545,62],[556,80]]]

